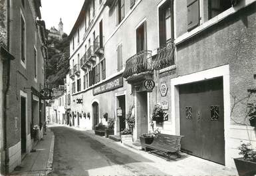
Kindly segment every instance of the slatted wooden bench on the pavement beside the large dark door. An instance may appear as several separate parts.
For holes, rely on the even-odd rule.
[[[170,161],[170,155],[176,153],[177,157],[180,157],[180,141],[183,135],[168,135],[158,133],[151,144],[145,144],[146,151],[150,149],[152,151],[160,151],[166,153],[166,160]]]

